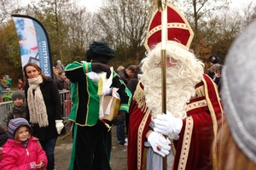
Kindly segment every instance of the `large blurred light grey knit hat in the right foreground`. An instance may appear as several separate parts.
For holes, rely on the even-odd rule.
[[[256,20],[232,44],[225,59],[221,96],[236,144],[256,164],[255,28]]]

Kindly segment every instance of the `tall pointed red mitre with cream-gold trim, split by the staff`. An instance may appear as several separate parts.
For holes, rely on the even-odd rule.
[[[188,20],[174,6],[167,3],[167,42],[177,42],[189,50],[194,37],[194,32],[189,26]],[[145,48],[150,51],[154,46],[161,42],[161,13],[156,10],[150,20]]]

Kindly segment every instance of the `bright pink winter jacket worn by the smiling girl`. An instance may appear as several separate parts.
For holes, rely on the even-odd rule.
[[[38,164],[41,160],[44,160],[44,167],[40,168],[43,170],[48,164],[45,151],[38,144],[38,139],[34,137],[29,139],[27,147],[13,139],[8,139],[7,142],[3,144],[1,158],[1,170],[30,170],[30,163],[32,161]]]

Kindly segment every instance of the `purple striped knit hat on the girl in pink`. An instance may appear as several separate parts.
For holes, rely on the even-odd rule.
[[[15,139],[15,133],[20,127],[28,127],[30,133],[32,134],[32,128],[26,119],[18,117],[11,119],[8,125],[8,137],[9,139]]]

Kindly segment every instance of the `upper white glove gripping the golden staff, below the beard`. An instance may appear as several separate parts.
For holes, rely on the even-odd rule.
[[[182,119],[172,116],[172,113],[169,111],[166,114],[157,115],[154,119],[154,131],[161,134],[179,134],[182,127]]]

